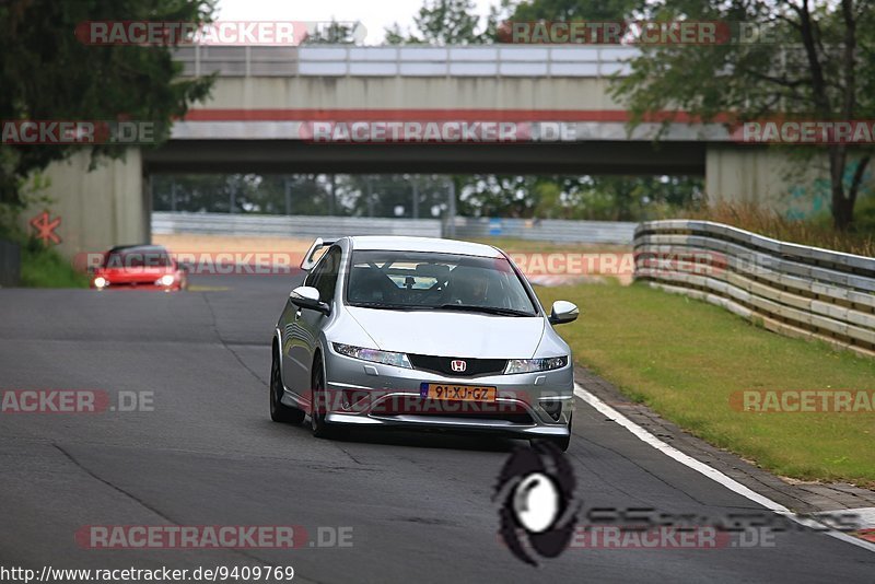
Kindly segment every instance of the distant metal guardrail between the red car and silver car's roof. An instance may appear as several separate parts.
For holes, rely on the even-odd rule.
[[[342,237],[345,235],[416,235],[440,237],[436,219],[383,219],[358,217],[256,215],[230,213],[152,212],[152,233],[265,236]]]

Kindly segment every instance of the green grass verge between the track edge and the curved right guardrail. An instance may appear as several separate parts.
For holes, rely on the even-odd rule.
[[[538,288],[581,318],[557,330],[574,359],[628,397],[778,475],[875,488],[875,413],[752,413],[744,389],[875,389],[875,360],[769,332],[723,308],[644,284]]]

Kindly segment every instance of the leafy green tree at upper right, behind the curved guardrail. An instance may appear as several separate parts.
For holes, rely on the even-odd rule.
[[[875,115],[871,1],[666,0],[651,16],[756,23],[780,44],[643,47],[631,74],[614,89],[616,97],[628,101],[633,125],[663,110],[686,110],[702,121],[725,113],[736,120],[867,120]],[[665,125],[675,118],[664,119]],[[872,147],[786,148],[804,160],[826,154],[833,224],[848,229]],[[845,185],[847,171],[851,178]]]

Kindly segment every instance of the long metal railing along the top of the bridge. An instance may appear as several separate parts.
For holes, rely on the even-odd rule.
[[[200,77],[570,77],[629,72],[638,47],[213,47],[176,49],[183,74]]]

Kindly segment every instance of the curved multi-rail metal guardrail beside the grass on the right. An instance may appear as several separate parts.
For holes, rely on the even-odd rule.
[[[875,355],[875,258],[686,220],[641,223],[634,250],[637,280]]]

